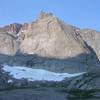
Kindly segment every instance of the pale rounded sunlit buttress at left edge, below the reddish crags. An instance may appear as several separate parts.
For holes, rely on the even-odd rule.
[[[0,54],[14,55],[17,52],[16,38],[8,33],[0,33]]]

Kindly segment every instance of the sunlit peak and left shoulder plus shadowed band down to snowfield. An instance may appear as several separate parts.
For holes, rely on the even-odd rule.
[[[65,24],[52,13],[41,12],[35,22],[0,28],[0,53],[4,54],[0,63],[32,67],[41,65],[52,71],[56,71],[57,66],[62,66],[62,71],[67,71],[69,68],[65,68],[72,69],[74,65],[78,69],[90,69],[99,62],[96,56],[98,51],[94,45],[91,46],[92,42],[88,43],[84,34],[83,30]],[[11,55],[14,56],[10,57]],[[60,71],[61,67],[58,69]]]

